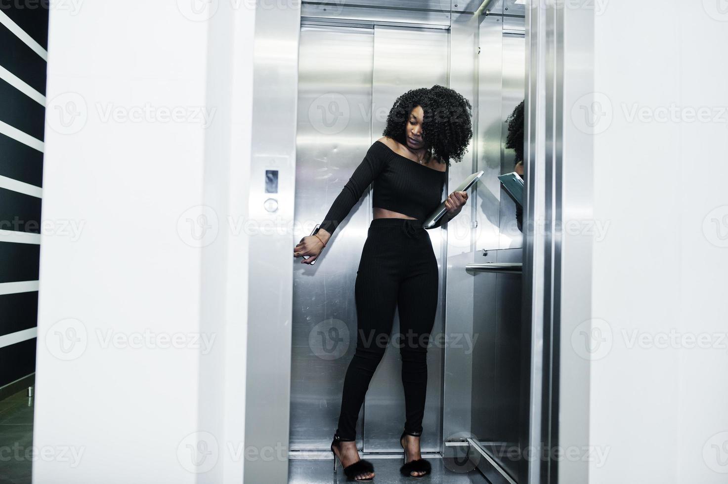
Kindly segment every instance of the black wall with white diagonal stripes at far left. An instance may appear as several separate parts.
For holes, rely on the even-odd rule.
[[[46,90],[47,1],[0,1],[0,46],[2,387],[30,375],[36,365],[36,338],[28,330],[36,328],[38,319],[38,188],[42,186],[43,152],[37,149],[38,143],[28,143],[25,135],[40,141],[44,138],[45,106],[39,102],[42,98],[38,94],[45,96]],[[27,238],[29,243],[12,242],[12,231],[38,235]]]

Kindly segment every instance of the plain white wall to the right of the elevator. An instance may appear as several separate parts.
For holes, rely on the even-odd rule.
[[[589,483],[728,480],[728,14],[719,5],[611,1],[595,18],[592,106],[604,116],[590,113],[593,213],[609,225],[593,244],[591,326],[601,333],[587,354],[589,440],[607,454],[590,462]],[[654,118],[673,106],[675,119]],[[633,109],[644,117],[631,119]],[[708,119],[695,120],[699,109]],[[695,347],[700,338],[710,347]]]

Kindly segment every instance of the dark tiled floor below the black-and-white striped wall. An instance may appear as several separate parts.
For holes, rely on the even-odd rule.
[[[30,484],[33,398],[28,390],[0,400],[0,484]]]

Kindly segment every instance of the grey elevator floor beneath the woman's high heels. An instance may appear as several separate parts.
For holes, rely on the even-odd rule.
[[[363,459],[369,459],[366,454]],[[433,459],[425,456],[425,459],[432,463],[432,474],[414,479],[400,474],[400,466],[402,465],[401,456],[392,456],[391,459],[370,459],[374,464],[373,484],[419,484],[438,483],[438,484],[489,484],[478,470],[472,470],[465,474],[452,472],[443,466],[443,459]],[[352,481],[348,481],[351,483]],[[341,470],[333,473],[332,459],[290,459],[288,461],[288,484],[331,484],[331,483],[347,483],[347,476]]]

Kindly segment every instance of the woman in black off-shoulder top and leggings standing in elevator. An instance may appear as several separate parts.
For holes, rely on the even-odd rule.
[[[438,302],[438,263],[422,223],[440,205],[450,159],[460,161],[472,138],[470,103],[454,90],[435,85],[405,92],[389,111],[383,137],[333,202],[318,231],[293,249],[312,263],[373,182],[373,221],[355,282],[357,348],[344,378],[339,428],[331,452],[349,479],[370,481],[371,462],[359,458],[356,424],[377,365],[384,355],[395,309],[399,307],[402,383],[406,421],[400,437],[403,475],[421,477],[430,463],[421,458],[427,342]],[[454,191],[437,226],[460,213],[467,193]]]

